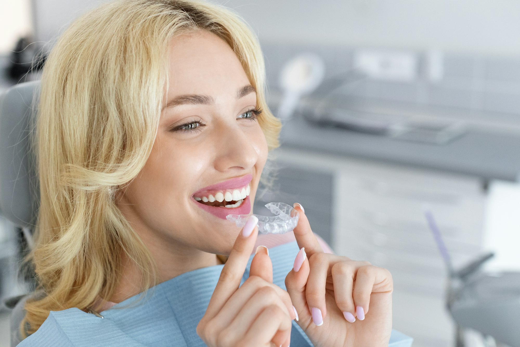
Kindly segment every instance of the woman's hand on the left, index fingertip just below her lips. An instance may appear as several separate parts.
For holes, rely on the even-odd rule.
[[[252,216],[240,232],[220,273],[197,334],[210,347],[288,347],[292,319],[296,318],[289,294],[272,283],[272,264],[265,247],[258,247],[250,276],[240,281],[253,253],[258,228]]]

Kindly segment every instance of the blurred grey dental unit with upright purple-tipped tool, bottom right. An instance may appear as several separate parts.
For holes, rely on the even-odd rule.
[[[512,347],[520,347],[520,273],[479,271],[493,257],[492,253],[455,270],[431,208],[425,205],[423,212],[449,272],[446,306],[457,326],[456,347],[466,346],[464,328],[474,329]]]

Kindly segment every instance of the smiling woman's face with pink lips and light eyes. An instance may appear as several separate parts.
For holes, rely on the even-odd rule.
[[[240,229],[226,215],[252,212],[267,159],[256,93],[218,36],[177,36],[169,49],[157,138],[119,205],[148,245],[229,254]]]

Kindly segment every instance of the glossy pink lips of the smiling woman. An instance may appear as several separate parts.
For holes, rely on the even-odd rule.
[[[230,189],[230,188],[240,188],[244,187],[245,185],[248,185],[249,182],[253,179],[253,175],[245,175],[238,178],[232,178],[224,182],[220,182],[213,185],[208,185],[207,187],[204,187],[203,189],[193,193],[193,195],[197,195],[200,192],[207,191],[207,190],[224,190],[224,189]],[[218,218],[226,219],[227,215],[248,215],[251,213],[251,201],[249,200],[249,195],[245,197],[242,204],[235,208],[228,208],[228,207],[220,207],[220,206],[208,206],[199,203],[197,200],[191,197],[191,200],[197,204],[200,208],[205,210],[206,212],[211,213],[214,216],[217,216]]]

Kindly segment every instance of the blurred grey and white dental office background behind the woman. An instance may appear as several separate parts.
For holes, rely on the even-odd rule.
[[[99,3],[2,0],[0,92],[39,79],[53,40]],[[520,2],[219,3],[258,35],[284,122],[277,188],[255,213],[300,202],[336,254],[391,270],[393,328],[413,346],[520,345]],[[31,284],[21,229],[0,221],[3,302]]]

